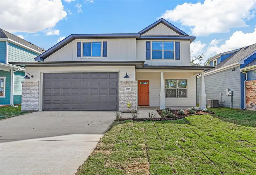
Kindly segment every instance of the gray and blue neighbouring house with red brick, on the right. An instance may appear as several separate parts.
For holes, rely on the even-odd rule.
[[[256,44],[220,53],[207,61],[214,69],[204,73],[207,99],[219,99],[219,106],[255,109],[256,104]],[[200,75],[197,76],[197,102]],[[226,89],[233,91],[233,99]],[[222,95],[221,95],[222,93]]]

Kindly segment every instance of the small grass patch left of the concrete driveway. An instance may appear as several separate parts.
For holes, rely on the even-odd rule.
[[[4,118],[10,118],[17,115],[26,114],[28,112],[21,112],[21,105],[18,107],[0,107],[0,120]]]

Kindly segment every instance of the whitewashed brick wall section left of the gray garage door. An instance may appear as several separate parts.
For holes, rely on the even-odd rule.
[[[21,111],[39,110],[39,83],[38,81],[21,82]]]

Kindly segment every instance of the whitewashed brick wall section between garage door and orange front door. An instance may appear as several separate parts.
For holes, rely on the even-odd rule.
[[[131,91],[125,91],[124,87],[131,87]],[[137,81],[120,81],[119,82],[119,111],[128,111],[127,103],[132,106],[130,110],[137,109]]]

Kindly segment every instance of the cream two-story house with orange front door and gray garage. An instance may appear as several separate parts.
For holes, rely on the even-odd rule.
[[[71,34],[37,56],[40,62],[12,63],[31,75],[22,83],[22,110],[196,106],[196,75],[213,67],[190,66],[194,39],[164,19],[138,33]],[[205,96],[202,88],[200,108]]]

